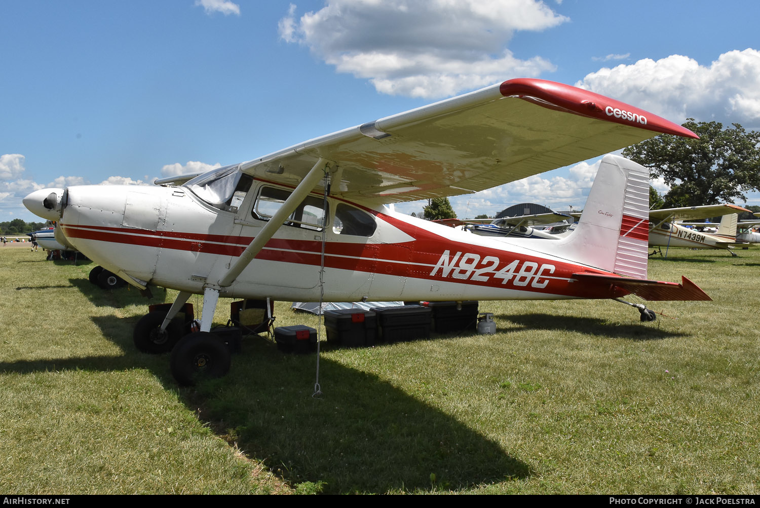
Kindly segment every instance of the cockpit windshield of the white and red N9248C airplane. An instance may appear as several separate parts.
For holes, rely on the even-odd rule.
[[[236,213],[252,183],[251,176],[243,174],[237,165],[233,165],[198,175],[182,186],[214,208]]]

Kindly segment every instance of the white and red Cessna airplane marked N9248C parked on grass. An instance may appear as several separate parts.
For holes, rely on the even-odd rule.
[[[210,332],[220,296],[710,300],[686,278],[647,280],[648,171],[622,157],[603,160],[578,228],[558,241],[478,237],[386,206],[477,192],[660,133],[696,138],[587,90],[513,79],[179,186],[43,189],[24,205],[129,284],[178,290],[168,313],[138,322],[135,343],[173,347],[173,370],[220,375],[230,366]],[[204,295],[201,331],[183,337],[170,322],[191,294]]]

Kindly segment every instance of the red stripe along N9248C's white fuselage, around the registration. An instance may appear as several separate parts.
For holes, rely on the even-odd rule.
[[[581,265],[566,262],[553,262],[553,270],[541,271],[541,276],[534,278],[537,284],[547,282],[544,287],[515,286],[506,283],[503,278],[496,278],[496,269],[504,268],[508,263],[519,259],[521,266],[534,263],[538,266],[546,264],[546,259],[536,256],[516,256],[488,247],[475,246],[467,243],[454,243],[422,228],[398,221],[394,217],[382,215],[382,220],[409,234],[415,240],[405,243],[344,243],[328,242],[325,244],[325,266],[366,273],[395,275],[398,277],[421,278],[432,281],[449,281],[488,287],[504,287],[524,291],[534,291],[544,294],[562,294],[573,297],[610,297],[609,288],[586,287],[572,284],[572,274],[578,271],[610,275],[609,272],[586,268]],[[68,226],[63,225],[67,237],[95,240],[109,243],[123,243],[135,246],[149,246],[157,249],[176,249],[189,252],[204,252],[219,256],[240,256],[245,246],[253,240],[252,237],[234,237],[229,235],[211,235],[202,233],[178,233],[173,231],[148,231],[120,227],[100,226]],[[458,249],[458,250],[457,250]],[[484,271],[480,279],[470,278],[475,275],[475,269],[462,268],[457,264],[450,270],[439,269],[433,275],[433,268],[439,263],[442,252],[451,252],[451,263],[459,252],[460,259],[464,254],[479,256],[485,262],[486,257],[499,259],[498,268]],[[296,263],[300,265],[320,265],[321,242],[316,240],[286,240],[273,238],[258,253],[256,259],[266,259],[276,262]],[[473,259],[470,257],[470,260]],[[477,268],[487,268],[481,263]],[[453,278],[451,274],[466,275],[465,278]],[[512,278],[511,281],[515,281]],[[524,280],[524,279],[523,279]],[[619,296],[619,295],[617,295]]]

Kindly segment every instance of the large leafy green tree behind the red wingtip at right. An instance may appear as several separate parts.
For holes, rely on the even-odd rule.
[[[663,177],[670,186],[665,207],[746,202],[746,192],[760,189],[760,132],[692,118],[683,126],[699,139],[663,134],[622,152]]]

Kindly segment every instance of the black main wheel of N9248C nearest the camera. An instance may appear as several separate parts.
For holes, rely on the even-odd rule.
[[[230,350],[216,335],[194,332],[185,335],[172,350],[172,375],[180,385],[195,385],[202,379],[226,376]]]

